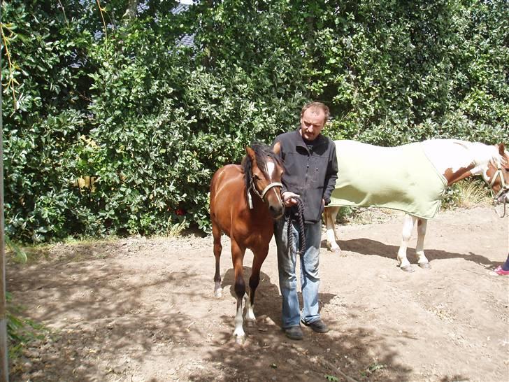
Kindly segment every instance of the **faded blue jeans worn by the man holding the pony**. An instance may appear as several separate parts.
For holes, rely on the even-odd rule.
[[[320,320],[318,313],[318,287],[320,277],[318,276],[318,265],[320,263],[320,243],[322,241],[322,222],[304,225],[306,235],[306,251],[301,255],[301,290],[303,308],[302,314],[297,297],[296,248],[299,243],[299,225],[292,225],[291,253],[288,253],[288,232],[287,222],[284,218],[275,222],[274,236],[278,247],[278,270],[279,288],[282,295],[282,327],[300,325],[300,320],[306,323],[313,323]]]

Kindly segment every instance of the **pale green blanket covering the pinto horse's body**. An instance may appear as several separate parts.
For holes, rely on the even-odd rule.
[[[393,208],[424,219],[438,213],[447,181],[421,143],[389,148],[335,143],[339,171],[329,206]]]

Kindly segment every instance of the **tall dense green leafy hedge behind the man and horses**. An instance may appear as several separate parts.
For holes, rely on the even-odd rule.
[[[214,171],[310,99],[334,139],[509,143],[508,4],[3,1],[6,233],[207,230]]]

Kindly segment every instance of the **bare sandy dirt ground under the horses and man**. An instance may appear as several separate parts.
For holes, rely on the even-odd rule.
[[[424,246],[431,269],[406,273],[396,267],[401,217],[338,226],[343,256],[322,241],[331,330],[304,327],[303,341],[280,330],[274,243],[243,346],[231,338],[226,236],[220,299],[210,236],[62,244],[8,262],[14,302],[51,330],[11,362],[10,381],[509,381],[509,277],[489,274],[508,254],[509,218],[440,213]],[[248,251],[246,275],[251,261]]]

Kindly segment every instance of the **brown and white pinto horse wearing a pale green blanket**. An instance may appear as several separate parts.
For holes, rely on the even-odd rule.
[[[382,148],[355,141],[336,141],[338,181],[325,208],[327,246],[336,243],[336,215],[340,206],[378,206],[406,212],[403,219],[399,267],[413,271],[406,257],[408,241],[417,222],[417,263],[429,268],[424,255],[427,220],[440,209],[447,186],[480,175],[492,189],[494,201],[509,203],[509,152],[503,143],[485,145],[455,139],[431,139],[421,143]]]

